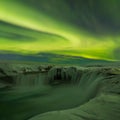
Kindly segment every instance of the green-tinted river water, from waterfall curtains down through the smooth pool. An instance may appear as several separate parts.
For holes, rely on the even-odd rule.
[[[96,96],[104,79],[102,74],[95,71],[81,73],[81,70],[68,74],[66,71],[64,75],[63,71],[56,72],[56,69],[48,74],[18,75],[14,87],[0,92],[0,119],[25,120],[40,113],[80,106]],[[60,76],[68,76],[65,77],[65,80],[69,78],[68,82],[60,82],[63,80]],[[49,82],[58,79],[57,84]]]

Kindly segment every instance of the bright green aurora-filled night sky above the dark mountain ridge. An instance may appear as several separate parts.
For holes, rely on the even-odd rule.
[[[0,51],[120,60],[120,0],[0,0]]]

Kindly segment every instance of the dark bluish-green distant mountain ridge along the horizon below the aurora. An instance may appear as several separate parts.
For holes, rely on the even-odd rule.
[[[35,55],[21,55],[16,53],[0,53],[0,61],[40,62],[50,64],[90,65],[115,64],[119,62],[88,59],[78,56],[39,53]]]

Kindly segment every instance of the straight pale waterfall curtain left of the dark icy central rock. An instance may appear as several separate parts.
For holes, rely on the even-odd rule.
[[[15,88],[21,90],[41,89],[45,79],[44,73],[18,74],[15,78]]]

